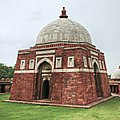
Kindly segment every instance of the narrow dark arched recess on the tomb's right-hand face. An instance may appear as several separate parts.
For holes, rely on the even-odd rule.
[[[96,63],[94,63],[93,68],[97,97],[103,97],[100,73]]]

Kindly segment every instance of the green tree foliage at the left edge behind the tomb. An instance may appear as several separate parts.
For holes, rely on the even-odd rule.
[[[1,78],[13,78],[13,74],[14,74],[14,67],[10,66],[6,66],[3,63],[0,63],[0,79]]]

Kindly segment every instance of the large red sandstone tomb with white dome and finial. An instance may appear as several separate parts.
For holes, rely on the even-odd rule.
[[[104,53],[81,24],[68,19],[64,7],[34,47],[18,51],[11,100],[87,105],[108,96]]]

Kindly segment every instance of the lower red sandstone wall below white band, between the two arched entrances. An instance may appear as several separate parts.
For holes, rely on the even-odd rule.
[[[52,102],[88,104],[97,100],[93,74],[53,73]]]

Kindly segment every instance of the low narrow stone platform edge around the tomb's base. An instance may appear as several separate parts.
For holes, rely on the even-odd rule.
[[[93,102],[88,105],[68,105],[68,104],[53,104],[50,102],[43,102],[43,101],[34,101],[34,102],[28,102],[28,101],[15,101],[15,100],[4,100],[4,102],[12,102],[12,103],[23,103],[23,104],[35,104],[35,105],[42,105],[42,106],[58,106],[58,107],[70,107],[70,108],[91,108],[95,105],[98,105],[102,102],[105,102],[107,100],[110,100],[114,98],[115,96],[110,96],[104,99],[100,99],[99,101]]]

